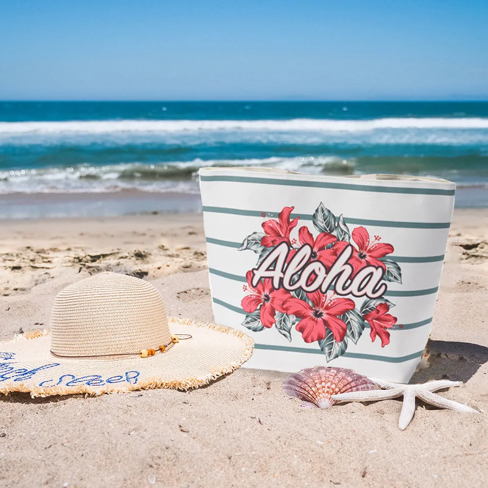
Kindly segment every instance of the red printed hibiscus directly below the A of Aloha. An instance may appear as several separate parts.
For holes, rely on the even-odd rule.
[[[242,299],[241,306],[247,313],[252,313],[261,305],[259,311],[261,323],[264,327],[272,327],[276,323],[276,310],[285,312],[283,302],[291,297],[290,293],[281,288],[275,290],[271,278],[264,278],[254,287],[251,285],[252,271],[247,271],[245,277],[251,294]]]

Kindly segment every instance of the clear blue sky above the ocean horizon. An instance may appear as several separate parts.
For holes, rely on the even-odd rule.
[[[0,100],[487,100],[486,0],[0,0]]]

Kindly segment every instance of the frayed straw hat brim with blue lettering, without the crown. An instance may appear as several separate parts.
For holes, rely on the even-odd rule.
[[[118,359],[60,358],[50,352],[49,331],[0,343],[0,393],[32,397],[126,392],[150,388],[188,390],[232,372],[252,355],[254,341],[238,330],[171,318],[173,334],[190,334],[166,352]]]

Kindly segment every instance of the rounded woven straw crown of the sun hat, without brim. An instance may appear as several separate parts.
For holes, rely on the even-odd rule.
[[[84,357],[135,354],[171,342],[159,291],[118,273],[100,273],[61,290],[51,309],[51,351]]]

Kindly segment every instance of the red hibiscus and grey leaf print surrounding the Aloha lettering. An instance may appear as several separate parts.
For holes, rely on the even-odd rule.
[[[269,214],[262,212],[262,217],[266,219],[262,224],[264,233],[255,232],[247,236],[239,250],[248,249],[259,254],[258,267],[266,256],[274,250],[279,251],[281,248],[277,247],[285,243],[287,266],[291,265],[291,260],[300,249],[309,246],[305,257],[305,249],[301,252],[303,259],[307,259],[304,266],[315,266],[314,271],[310,271],[303,281],[299,281],[298,275],[293,277],[288,291],[281,282],[279,287],[275,287],[277,281],[273,282],[268,277],[262,277],[256,285],[252,285],[254,275],[253,270],[249,270],[246,273],[247,285],[243,286],[246,295],[241,302],[247,314],[243,325],[254,332],[275,326],[289,341],[292,340],[291,328],[294,326],[305,343],[318,343],[326,361],[344,354],[348,341],[356,344],[367,326],[370,328],[371,341],[374,342],[379,337],[381,346],[387,346],[390,342],[389,329],[397,323],[397,318],[389,313],[394,304],[382,296],[371,298],[375,295],[367,295],[366,300],[359,304],[358,299],[361,296],[353,295],[353,300],[338,295],[334,291],[334,281],[328,289],[324,288],[325,292],[322,288],[307,290],[317,278],[317,273],[324,274],[324,270],[328,273],[345,251],[349,256],[347,263],[352,267],[351,280],[362,270],[364,275],[369,269],[376,270],[375,272],[380,269],[382,275],[378,279],[401,283],[400,266],[386,258],[394,252],[393,246],[381,242],[378,235],[374,235],[371,240],[368,230],[363,226],[350,232],[343,216],[336,217],[322,203],[312,216],[313,226],[317,230],[316,236],[314,237],[308,226],[302,225],[298,229],[298,236],[294,234],[295,237],[292,237],[291,234],[296,232],[295,227],[299,222],[299,217],[290,219],[293,210],[293,206],[284,207],[277,220],[269,219]],[[366,266],[369,268],[365,269]],[[292,272],[294,271],[290,271],[290,276]],[[362,277],[358,277],[358,280]],[[297,288],[297,285],[293,286],[294,283],[300,283],[306,289]]]

